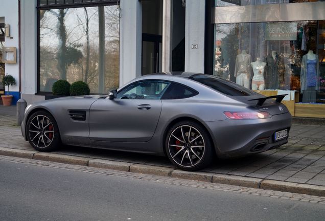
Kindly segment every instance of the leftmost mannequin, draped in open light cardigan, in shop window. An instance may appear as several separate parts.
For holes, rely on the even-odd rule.
[[[239,55],[236,57],[236,64],[235,64],[235,74],[236,83],[246,87],[249,89],[249,82],[250,82],[250,55],[243,50]]]

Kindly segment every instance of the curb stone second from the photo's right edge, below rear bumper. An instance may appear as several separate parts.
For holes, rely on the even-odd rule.
[[[260,184],[263,180],[257,178],[248,178],[246,176],[238,175],[225,175],[225,174],[216,174],[213,175],[213,183],[229,184],[236,186],[260,188]]]

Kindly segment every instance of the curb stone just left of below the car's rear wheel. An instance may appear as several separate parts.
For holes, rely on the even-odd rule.
[[[134,164],[130,167],[130,172],[146,173],[160,176],[171,176],[174,169],[168,167],[151,166],[144,164]]]

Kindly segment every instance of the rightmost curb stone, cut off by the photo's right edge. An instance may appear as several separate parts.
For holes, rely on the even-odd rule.
[[[261,182],[262,189],[271,189],[285,192],[295,192],[308,195],[325,196],[325,187],[310,184],[298,184],[284,181],[264,180]]]

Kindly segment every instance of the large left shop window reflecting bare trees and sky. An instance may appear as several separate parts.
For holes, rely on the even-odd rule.
[[[90,93],[119,87],[118,6],[40,10],[39,18],[40,92],[59,79],[82,80]]]

